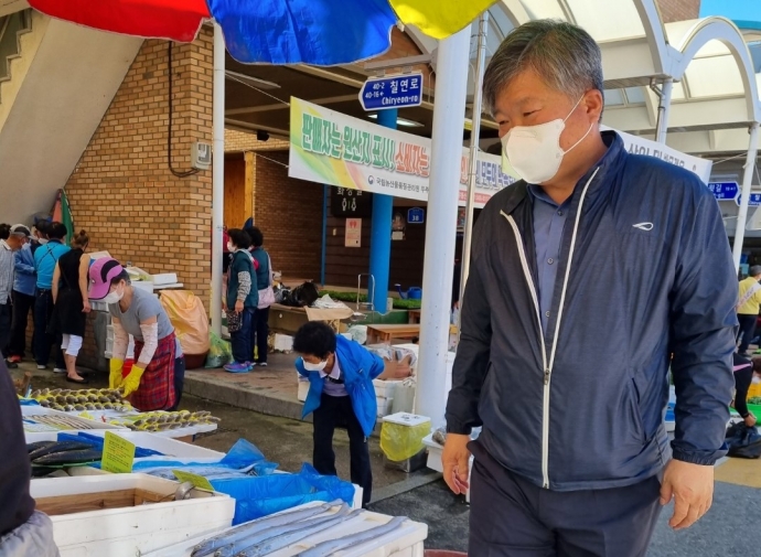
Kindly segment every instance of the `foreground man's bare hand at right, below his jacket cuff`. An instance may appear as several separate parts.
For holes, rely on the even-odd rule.
[[[710,508],[714,500],[714,467],[672,460],[666,465],[661,486],[661,504],[674,499],[674,515],[668,525],[685,529]]]

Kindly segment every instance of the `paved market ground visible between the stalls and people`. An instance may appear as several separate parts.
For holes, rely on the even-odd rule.
[[[227,451],[235,441],[245,438],[285,471],[298,471],[302,462],[311,461],[311,424],[272,415],[286,413],[283,409],[291,407],[287,411],[291,416],[293,413],[300,416],[292,361],[293,356],[276,354],[270,360],[274,365],[246,375],[219,371],[189,372],[186,385],[192,386],[185,392],[181,408],[210,410],[222,419],[217,431],[199,436],[196,444]],[[12,373],[17,375],[31,367],[23,364],[21,369]],[[33,369],[32,373],[34,388],[72,387],[63,376],[50,371]],[[90,382],[94,387],[105,386],[107,377],[93,374]],[[238,395],[233,395],[233,390],[238,390]],[[233,406],[231,401],[211,400],[211,397],[224,397],[242,407]],[[269,413],[261,409],[251,411],[246,406]],[[406,474],[385,468],[377,438],[371,438],[369,443],[374,473],[371,508],[428,524],[427,548],[467,551],[470,507],[464,497],[449,492],[440,474],[426,470]],[[347,479],[349,440],[345,432],[336,432],[334,447],[339,475]],[[647,557],[761,556],[761,528],[755,523],[755,517],[761,516],[761,460],[725,459],[716,469],[716,479],[714,506],[693,528],[673,532],[667,525],[671,510],[664,510]]]

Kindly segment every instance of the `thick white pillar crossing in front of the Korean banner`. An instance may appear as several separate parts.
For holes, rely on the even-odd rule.
[[[470,62],[468,25],[440,41],[431,147],[430,192],[422,270],[422,310],[416,409],[435,427],[443,424],[447,347],[460,195],[462,129]]]

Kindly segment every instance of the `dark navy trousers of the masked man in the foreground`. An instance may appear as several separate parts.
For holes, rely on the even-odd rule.
[[[510,472],[478,441],[471,474],[474,557],[644,557],[661,513],[657,476],[628,488],[557,492]]]

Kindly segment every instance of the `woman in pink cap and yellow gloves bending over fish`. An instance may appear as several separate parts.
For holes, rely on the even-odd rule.
[[[152,293],[135,288],[116,259],[97,259],[89,269],[89,299],[108,303],[114,325],[109,387],[118,388],[138,410],[173,410],[180,404],[185,358],[167,312]],[[129,335],[135,358],[122,377]]]

